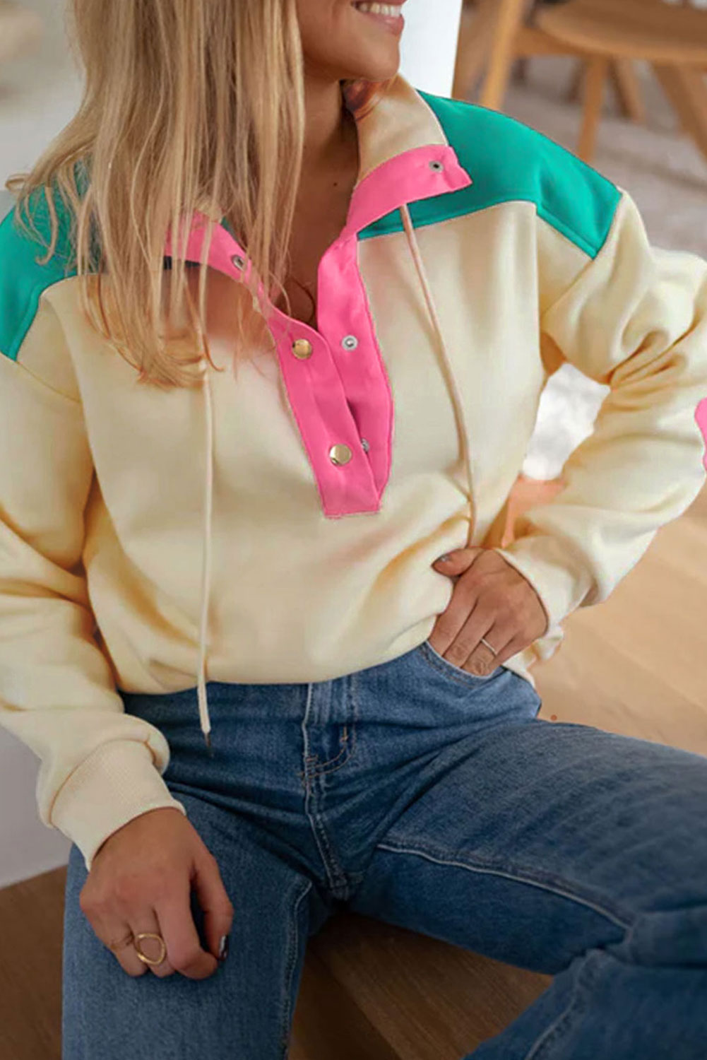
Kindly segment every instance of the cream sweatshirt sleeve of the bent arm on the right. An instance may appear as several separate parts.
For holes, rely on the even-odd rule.
[[[541,316],[541,336],[609,392],[565,488],[494,549],[537,593],[543,636],[605,600],[707,480],[707,262],[652,246],[619,191],[599,252]]]

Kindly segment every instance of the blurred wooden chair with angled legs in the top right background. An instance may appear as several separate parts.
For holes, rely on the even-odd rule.
[[[530,8],[530,11],[528,11]],[[479,103],[502,106],[511,68],[531,55],[572,55],[581,61],[584,114],[577,154],[593,164],[604,88],[614,78],[623,112],[644,120],[633,64],[647,61],[679,124],[707,158],[707,11],[664,0],[477,0],[475,16],[463,8],[454,95],[467,91],[482,67]],[[528,15],[530,17],[528,18]],[[580,82],[570,92],[575,100]]]

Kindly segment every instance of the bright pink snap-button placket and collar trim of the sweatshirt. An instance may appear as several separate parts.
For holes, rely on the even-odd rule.
[[[271,311],[269,328],[290,408],[328,518],[378,511],[390,475],[393,399],[358,267],[357,233],[405,202],[472,182],[444,144],[396,155],[359,181],[347,223],[319,263],[318,330],[272,306],[258,284],[262,304]],[[200,260],[206,218],[199,218],[204,215],[197,214],[190,232],[188,261]],[[171,253],[169,237],[164,252]],[[243,267],[234,264],[238,257]],[[213,229],[209,265],[235,279],[250,278],[251,263],[223,225]],[[297,339],[312,343],[310,357],[294,355]],[[333,463],[334,445],[347,445],[351,459]]]

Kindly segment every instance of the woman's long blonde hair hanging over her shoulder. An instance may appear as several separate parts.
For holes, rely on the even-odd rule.
[[[296,2],[70,0],[69,29],[83,99],[31,172],[6,181],[17,223],[41,240],[29,207],[43,193],[46,264],[56,250],[58,191],[70,217],[60,251],[86,278],[87,319],[139,382],[195,386],[204,353],[216,367],[205,326],[214,223],[226,219],[252,265],[233,284],[234,355],[253,341],[262,348],[266,334],[255,277],[291,312],[284,280],[305,126]],[[341,84],[355,91],[358,83]],[[195,211],[206,219],[196,307],[183,260],[189,225],[180,226]],[[167,233],[180,234],[169,293]]]

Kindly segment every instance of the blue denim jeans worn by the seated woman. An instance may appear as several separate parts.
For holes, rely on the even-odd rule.
[[[211,683],[213,757],[195,689],[122,694],[170,742],[229,955],[200,980],[127,975],[72,846],[64,1060],[282,1060],[307,937],[343,907],[553,976],[466,1060],[705,1060],[706,757],[541,720],[513,671],[427,642],[333,681]]]

